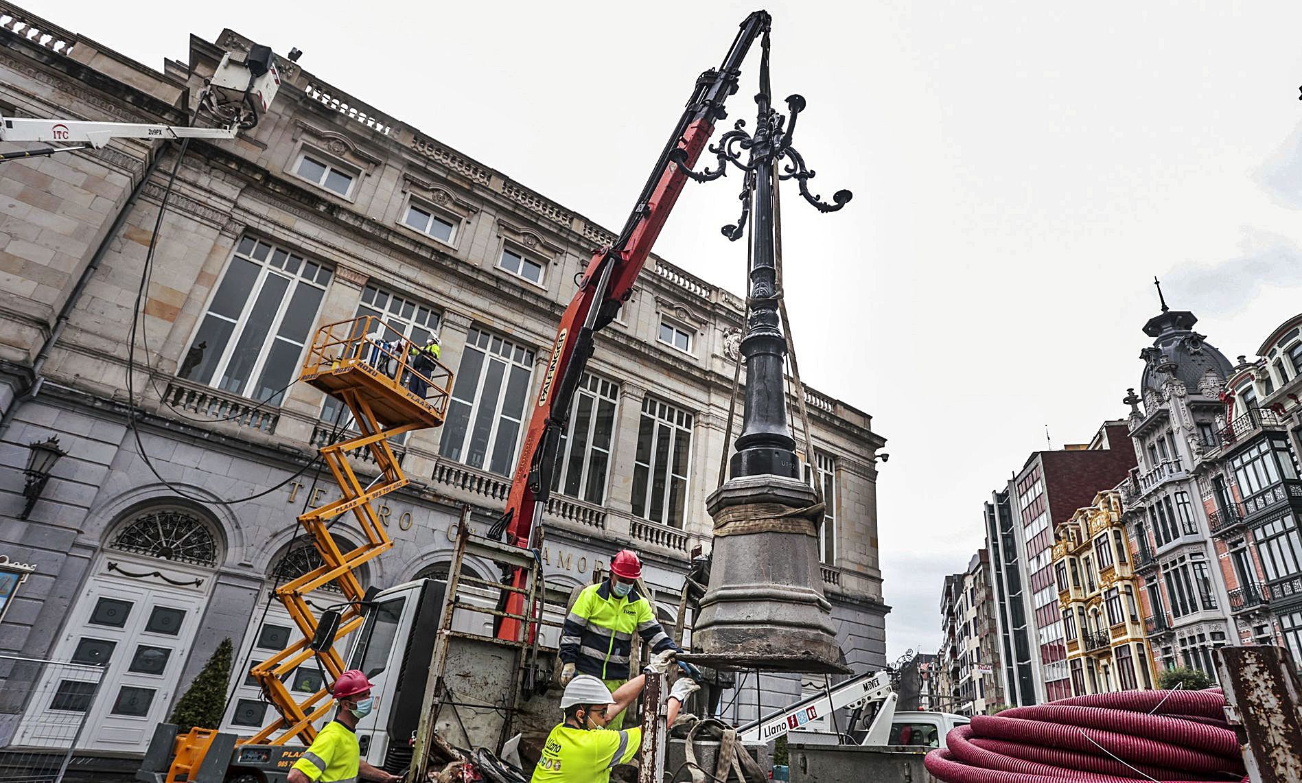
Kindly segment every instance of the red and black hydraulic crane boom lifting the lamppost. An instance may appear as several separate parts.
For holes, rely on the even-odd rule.
[[[516,546],[529,547],[533,543],[534,529],[551,492],[560,435],[569,420],[574,390],[592,356],[595,335],[615,319],[620,306],[633,292],[642,264],[651,254],[651,248],[687,181],[685,169],[695,164],[713,134],[715,122],[728,116],[724,102],[737,91],[741,64],[755,39],[768,33],[769,22],[771,17],[763,10],[746,17],[723,65],[717,70],[704,72],[697,79],[691,98],[651,169],[624,229],[613,244],[598,250],[587,262],[578,292],[561,315],[556,341],[552,344],[552,358],[547,363],[547,375],[525,431],[525,443],[503,515],[506,541]],[[682,164],[674,160],[682,160]],[[525,572],[516,569],[512,585],[522,586],[523,578]],[[504,605],[508,614],[521,614],[522,601],[521,593],[506,593]],[[499,623],[499,638],[514,640],[518,636],[518,620],[503,619]]]

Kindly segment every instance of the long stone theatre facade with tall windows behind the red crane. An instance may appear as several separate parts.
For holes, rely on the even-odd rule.
[[[223,51],[249,46],[230,30],[216,42],[191,36],[189,60],[156,72],[21,14],[0,27],[0,111],[190,124]],[[176,145],[115,142],[0,168],[0,558],[33,567],[8,595],[0,654],[105,664],[85,733],[91,752],[142,752],[227,637],[240,671],[225,726],[251,732],[271,718],[242,672],[290,638],[270,590],[312,565],[294,517],[336,496],[312,457],[348,423],[320,392],[293,383],[320,324],[379,314],[409,336],[441,337],[441,361],[457,373],[448,422],[396,444],[413,482],[380,507],[395,546],[362,575],[381,588],[437,576],[461,504],[479,532],[501,513],[556,323],[592,249],[612,240],[297,64],[280,65],[276,104],[237,141],[193,142],[180,162]],[[132,354],[137,292],[177,163]],[[710,547],[704,498],[719,482],[742,306],[648,261],[599,335],[575,400],[543,519],[555,585],[587,584],[615,551],[634,547],[656,602],[676,610],[689,552]],[[884,439],[868,414],[805,395],[811,479],[827,487],[824,588],[846,662],[880,668]],[[18,519],[29,444],[52,436],[66,456]],[[355,542],[358,532],[345,519],[336,534]],[[293,687],[310,689],[319,675],[299,677]],[[33,710],[49,709],[20,685],[0,683],[0,745],[25,736]],[[766,675],[736,694],[729,717],[798,694],[797,679]]]

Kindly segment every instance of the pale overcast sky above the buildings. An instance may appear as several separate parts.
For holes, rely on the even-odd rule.
[[[758,0],[755,0],[758,3]],[[749,3],[29,7],[160,68],[232,27],[607,227]],[[126,5],[132,5],[128,3]],[[811,386],[874,416],[887,644],[939,646],[945,573],[1029,452],[1120,417],[1157,311],[1233,360],[1299,309],[1302,4],[769,3],[809,100],[786,293]],[[733,117],[753,117],[753,56]],[[753,125],[749,122],[749,125]],[[689,184],[656,251],[742,291],[737,177]]]

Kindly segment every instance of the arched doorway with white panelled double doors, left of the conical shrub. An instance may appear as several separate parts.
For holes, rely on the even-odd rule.
[[[83,684],[49,674],[26,714],[85,718],[82,748],[138,753],[176,700],[221,562],[221,538],[207,515],[165,503],[132,511],[108,530],[52,655],[103,666],[98,693],[78,696]],[[53,737],[39,736],[46,723],[23,720],[14,744],[48,744]]]

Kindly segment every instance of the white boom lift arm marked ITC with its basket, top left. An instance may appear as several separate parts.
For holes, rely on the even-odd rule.
[[[298,50],[290,52],[297,60]],[[0,152],[0,163],[22,158],[42,158],[56,152],[99,149],[115,138],[230,139],[241,130],[258,124],[271,107],[280,89],[280,70],[271,47],[254,46],[247,55],[227,52],[199,94],[198,115],[223,122],[217,128],[154,125],[137,122],[95,122],[90,120],[43,120],[34,117],[0,117],[0,142],[62,143],[60,147],[38,147]]]

